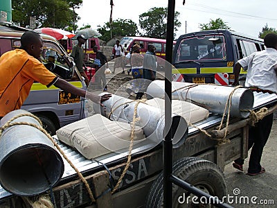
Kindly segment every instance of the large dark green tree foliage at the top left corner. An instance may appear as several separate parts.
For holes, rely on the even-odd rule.
[[[30,27],[30,17],[35,17],[35,27],[62,28],[72,31],[80,17],[73,8],[82,0],[12,0],[12,21]]]

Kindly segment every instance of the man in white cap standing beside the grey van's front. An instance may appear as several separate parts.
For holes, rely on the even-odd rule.
[[[78,44],[73,46],[72,52],[70,54],[73,57],[76,67],[78,71],[84,77],[84,83],[86,83],[87,87],[89,86],[89,78],[87,78],[87,73],[85,73],[84,69],[87,70],[87,67],[84,65],[84,49],[82,49],[82,44],[84,44],[87,39],[84,35],[79,35],[77,37]],[[84,68],[83,68],[84,67]]]

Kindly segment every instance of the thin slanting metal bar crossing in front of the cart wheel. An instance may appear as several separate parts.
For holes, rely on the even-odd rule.
[[[174,184],[176,184],[177,186],[179,186],[183,189],[186,189],[186,191],[193,193],[195,196],[205,197],[208,202],[211,202],[211,204],[215,205],[216,207],[233,208],[230,205],[228,205],[224,202],[221,202],[218,198],[211,196],[210,194],[208,194],[200,189],[197,189],[196,187],[193,187],[193,185],[185,182],[184,180],[179,179],[175,175],[170,176],[170,182],[173,182]]]

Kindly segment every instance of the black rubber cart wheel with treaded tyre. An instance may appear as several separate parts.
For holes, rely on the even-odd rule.
[[[172,167],[173,175],[179,177],[211,196],[222,198],[227,195],[224,173],[216,164],[199,157],[185,157]],[[188,197],[189,196],[189,197]],[[209,204],[192,202],[193,194],[172,185],[172,207],[212,207]],[[203,202],[203,200],[202,200]],[[152,184],[146,207],[163,207],[163,172]]]

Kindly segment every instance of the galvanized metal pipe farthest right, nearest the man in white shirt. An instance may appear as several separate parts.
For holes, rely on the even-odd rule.
[[[164,97],[163,80],[154,80],[146,91],[152,97]],[[172,99],[192,101],[215,114],[223,114],[233,87],[219,85],[194,85],[193,83],[172,82]],[[251,89],[238,88],[231,96],[230,116],[247,118],[253,109],[254,96]],[[229,105],[228,105],[229,106]],[[227,107],[228,107],[227,106]]]

